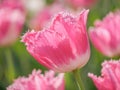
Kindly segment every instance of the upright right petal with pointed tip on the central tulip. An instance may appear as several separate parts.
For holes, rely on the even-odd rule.
[[[51,26],[52,30],[64,33],[70,39],[73,51],[78,54],[86,52],[89,46],[85,27],[87,13],[88,10],[83,10],[79,15],[79,19],[69,13],[60,13],[53,20]]]

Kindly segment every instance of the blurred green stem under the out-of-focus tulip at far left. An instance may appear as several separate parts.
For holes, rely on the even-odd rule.
[[[15,78],[15,69],[14,69],[14,62],[12,59],[12,54],[9,48],[5,51],[6,54],[6,62],[7,62],[7,70],[6,70],[6,78],[8,79],[8,82],[11,83],[11,81]]]

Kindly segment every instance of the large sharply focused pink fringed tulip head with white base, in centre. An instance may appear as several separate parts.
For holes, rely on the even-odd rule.
[[[59,13],[50,28],[27,32],[22,41],[39,63],[54,71],[68,72],[80,68],[90,56],[87,14],[88,10],[83,10],[78,17]]]

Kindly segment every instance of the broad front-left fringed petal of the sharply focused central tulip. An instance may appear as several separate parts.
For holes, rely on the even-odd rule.
[[[52,69],[59,69],[61,64],[68,64],[69,59],[75,58],[69,40],[57,32],[48,30],[28,32],[23,37],[23,41],[28,51],[39,62]]]

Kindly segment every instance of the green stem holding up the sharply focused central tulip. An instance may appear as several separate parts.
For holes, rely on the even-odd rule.
[[[79,90],[85,90],[83,83],[82,83],[82,80],[81,80],[79,69],[74,70],[73,74],[74,74],[74,77],[75,77],[75,80],[77,82]]]

